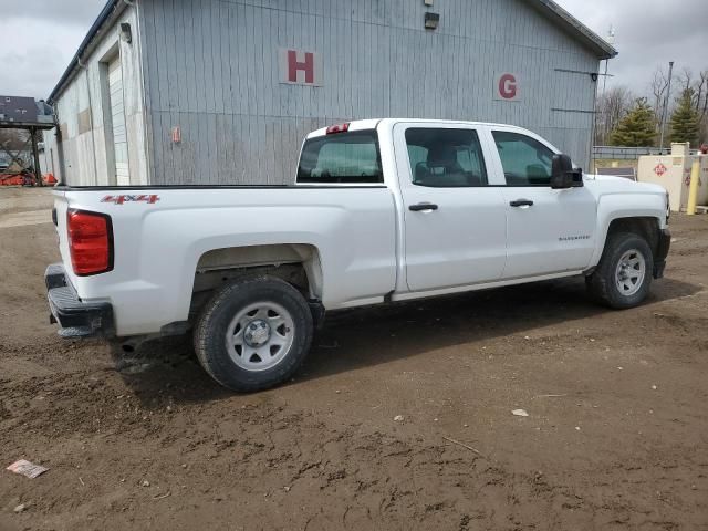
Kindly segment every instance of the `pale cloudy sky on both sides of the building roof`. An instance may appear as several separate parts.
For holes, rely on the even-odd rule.
[[[620,55],[610,62],[614,77],[607,86],[626,85],[648,95],[656,67],[669,61],[678,74],[708,70],[706,0],[556,2],[602,37],[614,28]],[[104,3],[0,0],[0,94],[49,96]]]

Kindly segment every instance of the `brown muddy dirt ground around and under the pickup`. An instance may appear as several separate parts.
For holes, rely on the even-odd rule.
[[[2,531],[708,530],[708,216],[642,308],[572,279],[354,311],[235,395],[188,337],[56,335],[50,204],[0,189]]]

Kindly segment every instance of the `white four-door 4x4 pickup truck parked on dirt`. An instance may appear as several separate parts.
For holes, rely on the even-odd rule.
[[[562,277],[611,308],[663,275],[668,198],[583,176],[508,125],[358,121],[310,134],[292,186],[58,187],[66,336],[194,330],[239,392],[292,376],[325,311]]]

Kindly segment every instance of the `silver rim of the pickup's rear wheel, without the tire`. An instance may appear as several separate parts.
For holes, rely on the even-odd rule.
[[[292,346],[295,326],[290,312],[274,302],[257,302],[240,310],[226,331],[233,363],[247,371],[268,371]]]

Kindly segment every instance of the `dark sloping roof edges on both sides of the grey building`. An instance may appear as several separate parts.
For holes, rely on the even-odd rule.
[[[571,37],[575,38],[579,42],[587,46],[590,50],[597,54],[598,59],[612,59],[617,55],[617,51],[605,41],[597,33],[593,32],[590,28],[583,24],[580,20],[573,17],[571,13],[561,8],[553,0],[522,0],[528,1],[533,8],[535,8],[541,14],[550,20],[555,25],[566,31]],[[93,25],[88,30],[88,33],[82,41],[79,50],[76,51],[71,63],[66,67],[59,83],[46,100],[48,103],[53,104],[59,94],[64,88],[66,82],[71,79],[74,70],[81,65],[83,55],[91,48],[94,39],[102,32],[104,25],[110,19],[117,17],[126,7],[126,2],[122,0],[107,0],[101,13],[94,21]]]

